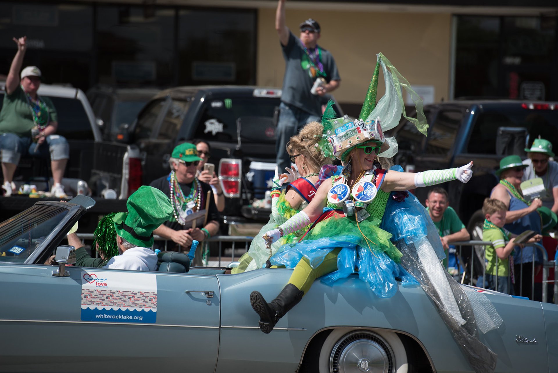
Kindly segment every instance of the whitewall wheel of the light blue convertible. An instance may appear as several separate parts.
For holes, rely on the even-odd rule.
[[[321,347],[318,366],[320,373],[407,373],[407,353],[396,333],[335,329]]]

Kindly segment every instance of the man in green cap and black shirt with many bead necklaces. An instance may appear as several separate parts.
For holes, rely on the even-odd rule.
[[[174,242],[170,242],[166,250],[188,251],[192,240],[203,242],[219,231],[220,217],[211,186],[196,179],[199,161],[201,158],[194,144],[185,142],[177,145],[169,159],[169,175],[153,180],[150,184],[169,196],[172,203],[170,220],[153,231],[155,235]],[[195,219],[189,217],[205,210],[206,206],[205,215]],[[200,264],[198,258],[194,264]]]

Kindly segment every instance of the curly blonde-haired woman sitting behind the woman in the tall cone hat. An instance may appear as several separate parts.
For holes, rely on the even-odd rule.
[[[299,177],[296,170],[291,169],[287,169],[287,174],[282,174],[281,178],[275,176],[271,191],[270,221],[254,238],[248,252],[240,257],[240,264],[232,270],[233,274],[261,268],[272,255],[276,254],[283,243],[296,242],[305,232],[300,229],[298,232],[286,235],[273,243],[271,248],[266,247],[266,242],[262,238],[263,233],[277,228],[304,209],[316,195],[321,180],[319,176],[324,178],[324,175],[336,169],[336,166],[326,166],[320,171],[324,164],[331,163],[331,159],[325,157],[317,146],[323,132],[324,127],[320,123],[310,122],[302,127],[297,135],[290,138],[287,152],[301,176]],[[286,182],[290,184],[287,185],[285,192],[281,192],[281,186]]]

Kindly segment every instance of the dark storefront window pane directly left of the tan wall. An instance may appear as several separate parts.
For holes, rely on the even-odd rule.
[[[179,85],[254,84],[256,12],[181,10],[178,49]]]

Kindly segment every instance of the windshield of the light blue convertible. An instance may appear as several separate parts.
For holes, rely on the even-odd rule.
[[[37,204],[0,223],[0,262],[25,262],[68,212]]]

